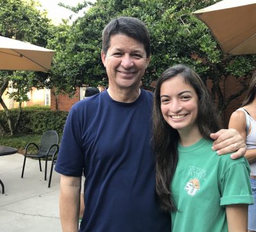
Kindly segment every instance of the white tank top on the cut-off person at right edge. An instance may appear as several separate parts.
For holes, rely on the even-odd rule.
[[[256,121],[243,108],[239,108],[239,109],[237,109],[237,111],[243,111],[246,116],[246,146],[247,146],[247,149],[256,149]],[[251,125],[251,131],[248,134],[250,125]],[[256,176],[256,162],[250,164],[250,167],[251,167],[251,175]]]

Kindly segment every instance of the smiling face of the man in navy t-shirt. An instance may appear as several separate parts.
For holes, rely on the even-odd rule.
[[[101,58],[109,79],[109,88],[139,88],[149,58],[142,43],[124,34],[111,36],[106,54]]]

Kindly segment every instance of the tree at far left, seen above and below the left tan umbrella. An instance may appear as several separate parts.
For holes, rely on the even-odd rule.
[[[47,46],[47,40],[52,35],[53,26],[50,20],[36,10],[35,1],[2,0],[0,2],[0,35],[33,43],[42,47]],[[47,86],[47,74],[42,72],[12,72],[0,71],[0,104],[3,106],[10,133],[14,134],[19,124],[21,103],[28,100],[27,93],[32,87]],[[19,114],[14,121],[3,101],[3,93],[12,86],[16,90],[8,93],[19,102]]]

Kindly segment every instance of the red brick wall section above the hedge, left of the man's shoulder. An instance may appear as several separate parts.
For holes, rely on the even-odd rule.
[[[57,97],[54,95],[54,89],[51,89],[51,110],[69,111],[72,105],[80,100],[79,88],[72,98],[68,95],[59,94]]]

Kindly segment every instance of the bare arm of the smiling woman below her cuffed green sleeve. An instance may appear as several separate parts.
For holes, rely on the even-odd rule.
[[[229,232],[247,232],[248,205],[227,205],[226,215]]]

